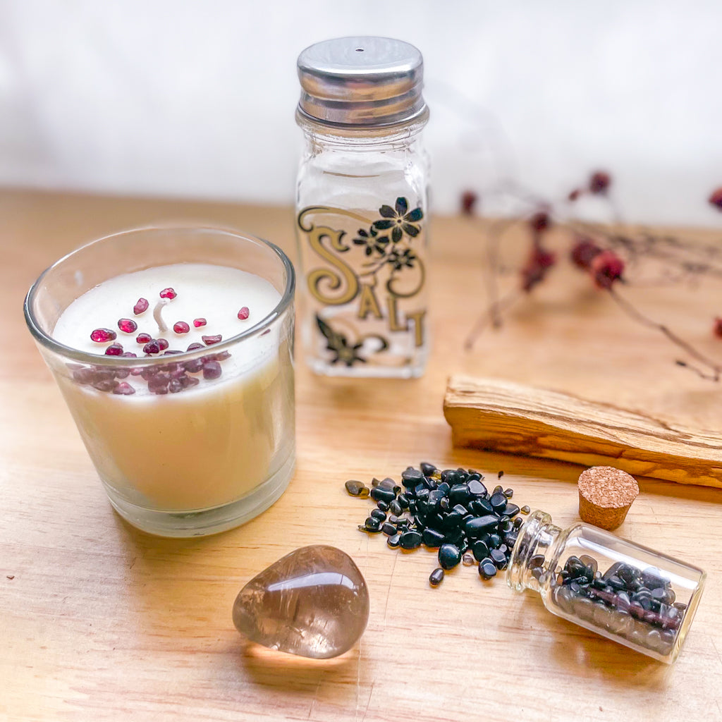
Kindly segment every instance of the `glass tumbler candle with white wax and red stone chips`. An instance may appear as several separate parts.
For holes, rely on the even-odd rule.
[[[111,235],[32,285],[27,326],[110,503],[134,526],[213,534],[287,487],[294,285],[275,245],[212,228]],[[96,326],[105,340],[90,338]]]

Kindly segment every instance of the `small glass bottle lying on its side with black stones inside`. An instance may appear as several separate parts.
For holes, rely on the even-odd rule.
[[[535,511],[519,529],[507,583],[539,592],[558,617],[671,664],[705,573],[591,524],[562,530]]]

